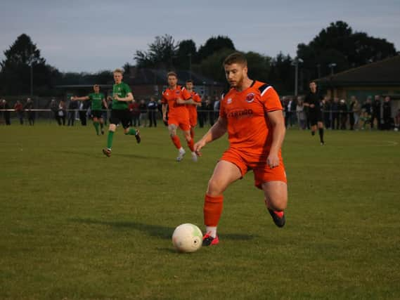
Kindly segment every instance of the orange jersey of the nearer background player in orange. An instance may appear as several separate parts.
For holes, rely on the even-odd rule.
[[[181,86],[176,86],[176,89],[166,89],[162,93],[161,102],[163,104],[168,104],[169,117],[189,117],[188,108],[186,104],[178,104],[176,103],[176,99],[188,100],[191,98],[191,94],[187,89]]]

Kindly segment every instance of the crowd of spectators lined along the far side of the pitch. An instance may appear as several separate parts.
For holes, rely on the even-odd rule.
[[[308,107],[304,105],[304,96],[284,96],[281,98],[285,125],[287,128],[309,129]],[[112,102],[108,103],[108,109]],[[46,108],[51,111],[53,119],[59,126],[74,126],[75,121],[86,126],[87,119],[91,117],[90,101],[69,101],[51,99]],[[359,130],[359,129],[380,129],[399,130],[400,110],[392,117],[392,105],[389,96],[368,97],[363,102],[351,96],[349,100],[334,97],[330,99],[325,96],[321,99],[321,110],[323,124],[326,129],[333,130]],[[129,104],[131,122],[133,126],[156,127],[162,122],[162,103],[153,97],[148,99],[134,100]],[[10,105],[5,99],[0,99],[0,124],[11,124],[11,112],[20,124],[34,125],[36,112],[34,102],[27,98],[25,101],[17,100]],[[198,106],[198,126],[212,126],[219,115],[219,97],[211,98],[205,96]],[[103,107],[103,119],[107,123],[108,110]]]

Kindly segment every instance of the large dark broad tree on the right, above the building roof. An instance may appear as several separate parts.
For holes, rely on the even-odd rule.
[[[395,55],[394,44],[364,32],[353,32],[342,21],[330,23],[309,44],[297,46],[297,57],[304,60],[302,67],[307,81],[330,74],[330,63],[335,63],[335,72],[341,72]]]

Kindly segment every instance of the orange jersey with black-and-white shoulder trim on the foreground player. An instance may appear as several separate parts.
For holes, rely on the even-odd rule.
[[[269,151],[272,132],[266,113],[282,110],[279,96],[272,86],[253,81],[245,91],[228,91],[220,104],[219,116],[227,121],[231,148],[252,155]]]

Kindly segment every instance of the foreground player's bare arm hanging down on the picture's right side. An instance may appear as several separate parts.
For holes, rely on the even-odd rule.
[[[266,113],[269,122],[272,126],[272,143],[271,149],[269,150],[268,158],[266,163],[269,167],[278,167],[279,165],[279,150],[282,147],[283,139],[285,138],[285,119],[283,119],[282,110],[273,110]]]

